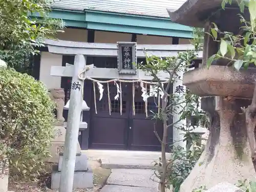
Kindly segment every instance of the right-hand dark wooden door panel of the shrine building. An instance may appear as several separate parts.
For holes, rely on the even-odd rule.
[[[154,133],[154,126],[159,137],[162,138],[163,126],[161,121],[153,119],[153,113],[158,112],[154,98],[150,97],[147,100],[147,113],[145,114],[145,102],[141,97],[140,84],[135,84],[135,115],[131,113],[129,116],[129,150],[139,151],[161,151],[161,144]],[[149,86],[148,86],[149,90]],[[158,99],[156,98],[156,101]],[[152,113],[153,112],[153,113]]]

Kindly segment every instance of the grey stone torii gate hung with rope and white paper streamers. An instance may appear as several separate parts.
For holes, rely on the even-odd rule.
[[[76,158],[76,143],[79,132],[80,113],[83,101],[83,86],[84,82],[78,78],[78,75],[86,68],[86,56],[117,56],[117,48],[111,44],[95,44],[84,42],[73,42],[65,40],[46,40],[46,44],[50,53],[61,55],[75,55],[74,65],[66,65],[65,67],[52,66],[51,76],[72,77],[72,89],[69,103],[69,114],[67,122],[67,132],[65,138],[65,146],[63,149],[62,172],[60,177],[60,192],[71,192],[73,188],[74,167]],[[145,45],[146,47],[147,45]],[[152,46],[152,45],[151,45]],[[178,47],[180,46],[180,47]],[[173,56],[177,51],[193,49],[187,45],[160,46],[148,47],[148,54],[154,54],[161,57]],[[147,48],[147,49],[148,49]],[[172,50],[173,49],[173,50]],[[144,57],[143,47],[138,46],[138,57]],[[153,77],[142,70],[137,70],[137,73],[120,74],[120,69],[112,68],[93,68],[88,66],[86,77],[90,78],[108,78],[108,79],[123,79],[123,80],[144,80],[151,81]],[[159,72],[160,80],[165,81],[169,74]],[[182,81],[177,82],[182,86]],[[177,84],[177,86],[178,86]],[[176,86],[174,85],[174,91]],[[178,117],[177,117],[178,118]],[[175,134],[175,135],[178,135]]]

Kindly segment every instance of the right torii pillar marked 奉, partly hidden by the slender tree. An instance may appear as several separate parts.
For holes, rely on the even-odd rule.
[[[183,71],[177,72],[177,76],[175,77],[175,82],[173,86],[173,93],[178,96],[179,103],[185,100],[184,97],[186,93],[186,87],[183,86],[182,79],[183,79]],[[173,122],[176,122],[180,119],[181,115],[179,113],[183,110],[184,106],[185,106],[185,103],[182,103],[174,107]],[[181,146],[184,148],[184,150],[186,150],[186,142],[183,141],[185,132],[181,131],[180,128],[185,126],[186,126],[185,119],[179,121],[173,126],[173,143],[174,143],[173,145],[175,147]]]

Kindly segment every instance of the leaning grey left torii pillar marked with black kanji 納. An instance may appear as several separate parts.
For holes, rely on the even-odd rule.
[[[81,55],[75,55],[74,66],[67,65],[65,72],[72,74],[72,87],[70,94],[69,113],[67,122],[67,131],[63,150],[63,161],[60,176],[60,192],[71,192],[73,189],[77,137],[79,133],[80,113],[83,101],[83,80],[78,78],[81,71],[86,66],[86,58]],[[52,74],[58,74],[53,71]],[[61,74],[61,76],[66,76]]]

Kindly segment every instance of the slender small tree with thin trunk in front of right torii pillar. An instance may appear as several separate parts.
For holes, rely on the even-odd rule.
[[[169,127],[173,127],[173,129],[182,129],[185,131],[184,126],[175,127],[177,123],[179,123],[182,119],[186,117],[190,117],[192,115],[202,115],[198,110],[197,104],[198,97],[192,95],[189,91],[186,92],[186,95],[179,96],[177,94],[173,94],[170,88],[177,78],[177,72],[180,70],[186,70],[190,65],[193,59],[198,57],[198,52],[201,50],[201,38],[198,38],[200,34],[202,34],[202,30],[195,29],[195,38],[193,39],[193,44],[195,45],[194,50],[188,50],[185,52],[179,52],[177,56],[168,57],[162,59],[157,56],[147,56],[146,55],[146,63],[143,65],[139,65],[140,69],[150,73],[153,76],[153,81],[158,82],[156,85],[162,92],[162,103],[160,107],[160,113],[154,114],[155,119],[160,119],[163,122],[163,137],[160,138],[158,133],[155,130],[155,134],[161,143],[161,158],[159,162],[160,170],[159,174],[156,174],[160,179],[161,192],[165,191],[166,187],[169,187],[170,184],[167,180],[168,168],[169,165],[173,162],[172,160],[166,159],[166,147],[168,147],[167,142],[167,133]],[[158,73],[163,71],[169,74],[168,82],[163,85],[160,78],[158,77]],[[184,106],[185,104],[185,106]],[[181,118],[176,122],[169,123],[169,119],[172,119],[173,114],[176,113],[176,110],[180,108],[182,109]],[[199,117],[200,118],[200,117]],[[188,137],[187,137],[188,138]],[[184,138],[184,140],[186,140]]]

